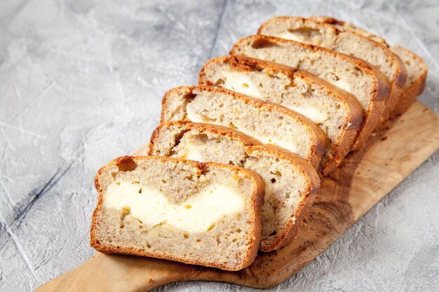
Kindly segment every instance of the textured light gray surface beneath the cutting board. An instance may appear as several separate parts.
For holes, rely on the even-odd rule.
[[[163,92],[196,83],[273,15],[332,15],[418,53],[439,111],[431,1],[0,2],[0,290],[29,291],[93,254],[93,176],[144,144]],[[419,145],[420,147],[422,145]],[[269,291],[438,291],[439,153],[295,277]],[[161,291],[253,291],[184,282]]]

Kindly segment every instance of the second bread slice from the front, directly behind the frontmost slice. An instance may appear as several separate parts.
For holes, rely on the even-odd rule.
[[[257,172],[265,183],[262,251],[285,246],[297,235],[320,187],[316,170],[298,155],[263,146],[241,132],[217,125],[159,125],[152,134],[149,154],[215,161]]]

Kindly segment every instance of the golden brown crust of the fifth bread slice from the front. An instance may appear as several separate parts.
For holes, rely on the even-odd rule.
[[[384,111],[384,104],[386,102],[386,99],[389,97],[389,81],[387,81],[387,78],[371,64],[356,57],[337,53],[333,50],[328,50],[327,48],[313,46],[307,43],[298,43],[297,41],[281,39],[275,36],[264,36],[261,34],[257,34],[255,36],[246,36],[245,38],[240,39],[238,42],[235,43],[234,47],[230,50],[230,55],[239,55],[239,47],[243,43],[257,43],[261,41],[266,43],[273,43],[277,46],[281,46],[280,43],[295,46],[297,45],[305,48],[306,50],[311,50],[312,52],[320,52],[323,54],[333,55],[335,57],[342,58],[346,62],[353,64],[353,66],[360,68],[363,72],[365,72],[365,74],[372,76],[372,78],[374,79],[374,84],[372,95],[370,96],[371,102],[369,108],[364,113],[363,126],[361,127],[360,133],[356,137],[356,141],[354,141],[351,150],[356,150],[363,147],[365,142],[367,141],[367,138],[369,138],[373,130],[377,127],[377,125],[379,125],[381,114]]]

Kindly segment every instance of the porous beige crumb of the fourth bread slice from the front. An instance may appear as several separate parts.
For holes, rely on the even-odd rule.
[[[206,63],[200,79],[201,85],[215,85],[222,87],[225,74],[228,71],[241,71],[240,67],[234,66],[231,59],[240,62],[240,57],[219,57]],[[271,66],[276,66],[272,64]],[[280,104],[286,108],[306,106],[318,109],[320,113],[327,115],[327,119],[317,125],[327,134],[331,141],[337,141],[340,132],[346,127],[349,120],[350,109],[347,105],[330,92],[323,85],[310,83],[305,76],[296,72],[285,74],[280,70],[272,70],[263,64],[250,70],[242,71],[262,92],[262,100],[273,104]]]

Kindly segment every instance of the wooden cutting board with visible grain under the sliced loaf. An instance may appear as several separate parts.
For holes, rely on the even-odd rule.
[[[238,272],[168,260],[96,253],[76,269],[36,291],[149,291],[173,281],[225,281],[266,288],[280,284],[330,246],[349,226],[377,204],[439,148],[439,117],[417,102],[390,129],[351,153],[322,181],[299,235],[288,246],[259,253]],[[144,147],[135,154],[144,153]]]

